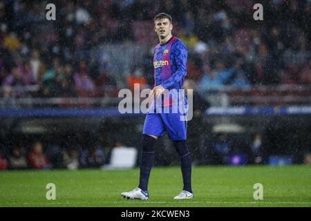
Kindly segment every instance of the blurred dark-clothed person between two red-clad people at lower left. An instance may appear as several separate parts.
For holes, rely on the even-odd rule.
[[[27,159],[23,152],[23,146],[12,148],[11,155],[8,158],[10,169],[26,169],[28,167]]]

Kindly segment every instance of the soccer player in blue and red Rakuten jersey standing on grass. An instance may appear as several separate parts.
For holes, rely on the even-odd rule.
[[[158,35],[160,44],[154,50],[154,88],[149,96],[162,96],[164,92],[183,89],[183,81],[187,75],[187,48],[182,41],[173,37],[171,30],[173,25],[171,16],[166,13],[160,13],[154,17],[155,31]],[[178,98],[181,99],[181,98]],[[185,105],[187,104],[186,97]],[[144,121],[144,130],[142,135],[142,155],[140,162],[140,183],[138,188],[133,191],[121,193],[127,199],[148,200],[148,182],[151,167],[154,162],[154,146],[158,137],[167,131],[169,138],[173,141],[178,155],[180,156],[180,167],[182,171],[183,189],[174,199],[193,199],[194,194],[191,189],[191,156],[186,145],[187,140],[187,121],[181,120],[186,112],[180,111],[174,113],[171,97],[161,103],[161,108],[169,107],[169,113],[163,111],[153,111],[149,109]],[[165,102],[167,101],[167,102]],[[158,99],[156,99],[158,102]],[[155,103],[156,103],[155,102]],[[158,108],[156,104],[155,108]]]

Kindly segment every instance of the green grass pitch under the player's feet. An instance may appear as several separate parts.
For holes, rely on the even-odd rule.
[[[126,200],[139,169],[1,171],[0,206],[311,206],[311,166],[194,166],[194,200],[173,200],[182,189],[179,167],[155,167],[149,200]],[[56,200],[46,200],[46,184]],[[254,200],[254,184],[263,200]]]

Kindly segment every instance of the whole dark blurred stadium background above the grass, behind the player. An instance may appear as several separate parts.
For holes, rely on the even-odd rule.
[[[0,169],[36,167],[35,142],[39,169],[139,150],[144,115],[117,113],[117,93],[153,87],[158,12],[189,50],[194,164],[311,164],[311,1],[54,1],[56,21],[47,3],[0,1]],[[156,165],[178,164],[167,136],[156,150]]]

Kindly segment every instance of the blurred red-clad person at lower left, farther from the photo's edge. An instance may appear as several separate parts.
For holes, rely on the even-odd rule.
[[[50,169],[48,158],[43,153],[41,142],[35,142],[32,151],[28,155],[28,162],[33,169]]]

